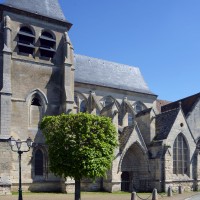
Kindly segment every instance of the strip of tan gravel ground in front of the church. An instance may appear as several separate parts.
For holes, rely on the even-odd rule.
[[[159,200],[184,200],[188,197],[197,194],[197,192],[185,192],[183,194],[175,194],[173,197],[166,195],[158,195]],[[151,194],[138,194],[137,200],[148,199],[151,200]],[[0,196],[0,200],[17,200],[18,195]],[[25,193],[23,200],[74,200],[74,194],[55,194],[55,193]],[[81,200],[131,200],[130,193],[82,193]]]

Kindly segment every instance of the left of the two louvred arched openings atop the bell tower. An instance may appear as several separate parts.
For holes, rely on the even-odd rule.
[[[19,53],[33,54],[35,49],[35,35],[27,26],[20,28],[18,32],[18,49]]]

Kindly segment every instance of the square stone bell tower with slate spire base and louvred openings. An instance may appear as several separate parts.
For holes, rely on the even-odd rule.
[[[59,178],[48,171],[39,123],[44,115],[73,108],[74,56],[68,36],[72,24],[65,19],[58,0],[5,0],[0,4],[0,21],[0,152],[11,136],[31,137],[36,145],[29,156],[22,156],[24,184],[31,191],[59,191]],[[0,177],[13,185],[18,182],[13,172],[15,156],[3,158],[8,167],[0,168]],[[38,159],[42,159],[39,172]]]

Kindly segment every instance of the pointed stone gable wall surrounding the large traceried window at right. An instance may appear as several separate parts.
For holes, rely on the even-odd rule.
[[[196,144],[192,138],[191,132],[185,122],[183,115],[179,112],[175,124],[171,129],[171,133],[168,136],[166,144],[169,148],[165,154],[165,191],[169,186],[172,186],[174,190],[181,184],[185,190],[194,190],[194,159]],[[174,174],[173,173],[173,145],[178,134],[182,133],[185,137],[188,146],[188,166],[187,173],[185,174]]]

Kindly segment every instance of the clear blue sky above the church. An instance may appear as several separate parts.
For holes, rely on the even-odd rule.
[[[200,92],[200,0],[59,1],[76,54],[139,67],[159,99]]]

